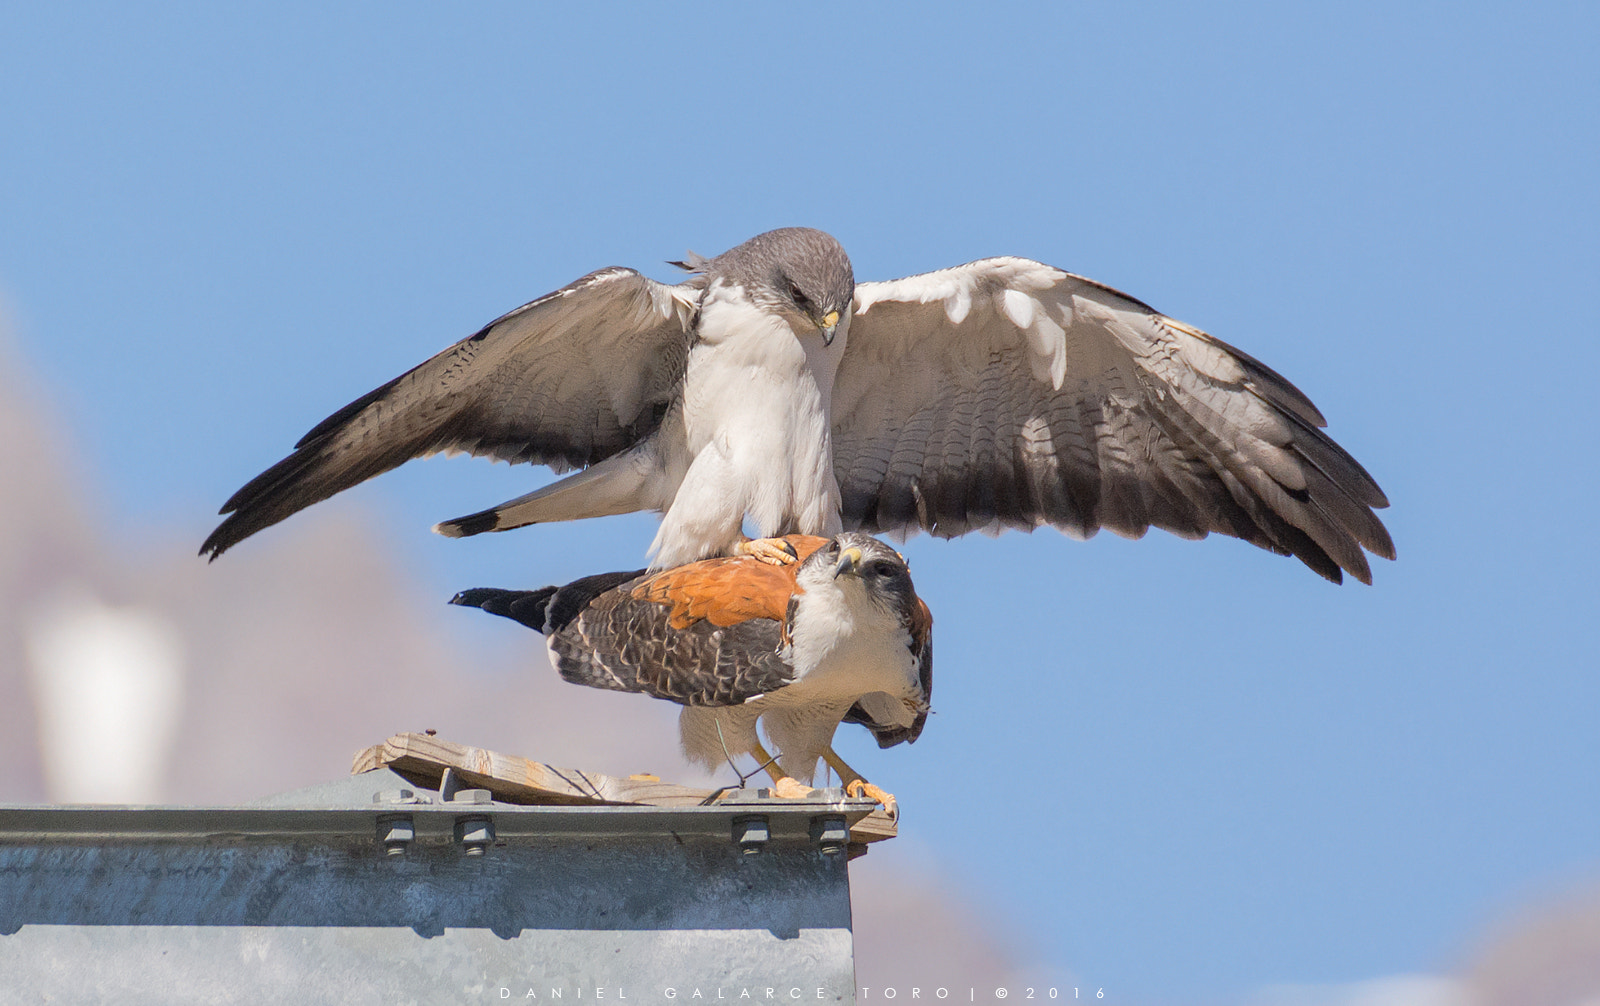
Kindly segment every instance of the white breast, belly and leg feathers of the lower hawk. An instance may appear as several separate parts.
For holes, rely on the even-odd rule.
[[[794,685],[734,707],[685,707],[678,717],[683,752],[706,766],[755,749],[755,723],[771,741],[770,753],[800,782],[816,776],[818,758],[834,741],[840,720],[864,696],[877,696],[880,721],[910,726],[925,701],[910,649],[910,633],[898,611],[867,595],[858,576],[834,579],[832,568],[811,566],[811,582],[794,619]],[[720,726],[720,734],[718,734]]]

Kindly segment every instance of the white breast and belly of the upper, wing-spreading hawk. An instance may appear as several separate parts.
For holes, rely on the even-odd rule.
[[[650,552],[654,568],[726,555],[757,534],[840,531],[829,406],[848,317],[830,347],[712,283],[683,379],[682,483]]]

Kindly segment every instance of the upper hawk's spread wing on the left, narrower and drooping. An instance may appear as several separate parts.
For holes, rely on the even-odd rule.
[[[699,283],[602,269],[523,304],[317,424],[222,505],[200,553],[437,451],[563,472],[632,446],[682,384]]]

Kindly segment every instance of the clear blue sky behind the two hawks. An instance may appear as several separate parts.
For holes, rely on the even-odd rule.
[[[186,549],[483,321],[778,226],[861,278],[1043,259],[1259,357],[1394,502],[1374,587],[915,539],[939,715],[843,752],[1043,961],[1198,1003],[1450,969],[1600,876],[1597,106],[1582,5],[24,5],[0,296],[115,529]],[[544,478],[352,496],[442,600],[638,563],[650,518],[427,534]]]

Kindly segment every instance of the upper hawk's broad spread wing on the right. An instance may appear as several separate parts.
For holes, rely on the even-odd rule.
[[[1293,384],[1029,259],[856,286],[834,385],[845,528],[1232,534],[1339,582],[1394,558],[1378,483]]]

